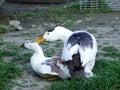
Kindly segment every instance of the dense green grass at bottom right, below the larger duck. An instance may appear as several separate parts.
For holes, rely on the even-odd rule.
[[[71,80],[55,81],[49,90],[119,90],[120,89],[120,60],[99,60],[96,62],[93,78],[74,78]]]

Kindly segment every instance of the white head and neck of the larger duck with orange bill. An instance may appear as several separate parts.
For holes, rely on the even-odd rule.
[[[61,26],[57,26],[54,29],[47,30],[45,34],[35,42],[39,44],[44,41],[57,41],[57,40],[66,41],[66,39],[68,38],[69,35],[71,35],[71,33],[72,32],[70,30]]]

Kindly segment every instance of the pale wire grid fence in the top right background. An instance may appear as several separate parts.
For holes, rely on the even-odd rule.
[[[120,0],[79,0],[80,10],[120,10]]]

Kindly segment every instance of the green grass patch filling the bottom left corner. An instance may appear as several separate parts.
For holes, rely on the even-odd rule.
[[[0,90],[10,90],[13,86],[12,79],[21,74],[22,69],[12,62],[5,62],[0,58]]]

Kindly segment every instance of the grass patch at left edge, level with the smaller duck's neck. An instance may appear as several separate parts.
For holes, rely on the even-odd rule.
[[[31,53],[23,53],[24,49],[16,46],[12,43],[5,43],[1,41],[1,46],[5,45],[4,48],[0,49],[0,57],[12,57],[12,62],[19,64],[26,64],[29,62]]]

